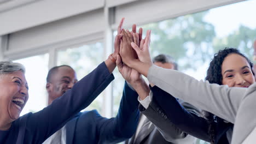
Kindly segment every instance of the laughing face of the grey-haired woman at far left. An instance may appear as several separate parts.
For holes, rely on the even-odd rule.
[[[22,71],[0,75],[0,115],[7,122],[18,119],[28,100],[28,86]]]

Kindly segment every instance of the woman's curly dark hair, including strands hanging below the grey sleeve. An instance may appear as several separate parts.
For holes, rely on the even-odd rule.
[[[230,55],[231,53],[236,53],[244,58],[246,58],[247,62],[249,63],[252,73],[253,73],[253,63],[243,55],[239,50],[234,48],[225,47],[224,50],[219,50],[218,53],[214,54],[212,61],[210,62],[210,66],[207,70],[207,76],[205,80],[209,81],[210,83],[217,83],[218,85],[222,85],[222,63],[226,56]],[[253,73],[254,75],[254,73]],[[205,114],[205,118],[208,119],[209,128],[208,133],[210,134],[210,142],[216,143],[215,141],[215,131],[214,131],[214,124],[223,122],[222,118],[214,116],[210,112],[203,111]]]

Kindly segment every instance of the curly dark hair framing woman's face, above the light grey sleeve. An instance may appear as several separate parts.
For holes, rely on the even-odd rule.
[[[231,53],[236,53],[237,55],[244,57],[249,63],[253,73],[253,63],[245,55],[243,55],[237,49],[225,47],[224,50],[219,50],[218,53],[214,54],[214,57],[210,62],[210,66],[207,70],[207,76],[205,80],[209,81],[210,83],[217,83],[218,85],[222,85],[222,63],[225,57],[230,55]]]

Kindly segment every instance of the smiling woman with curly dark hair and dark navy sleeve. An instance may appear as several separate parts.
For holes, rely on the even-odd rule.
[[[248,87],[254,83],[252,69],[253,64],[245,55],[237,49],[225,48],[214,55],[206,80],[229,87]],[[203,111],[205,118],[194,115],[178,103],[175,95],[172,97],[157,86],[152,87],[151,91],[153,101],[180,130],[211,143],[230,143],[234,124],[207,111]],[[147,113],[144,115],[153,119]],[[158,126],[157,123],[155,125]],[[168,137],[168,133],[163,134]]]

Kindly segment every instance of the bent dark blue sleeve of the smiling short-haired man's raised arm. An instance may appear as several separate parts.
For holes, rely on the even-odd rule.
[[[98,143],[118,143],[129,139],[136,131],[138,125],[138,94],[125,82],[123,97],[119,111],[114,118],[98,117],[97,129]]]

